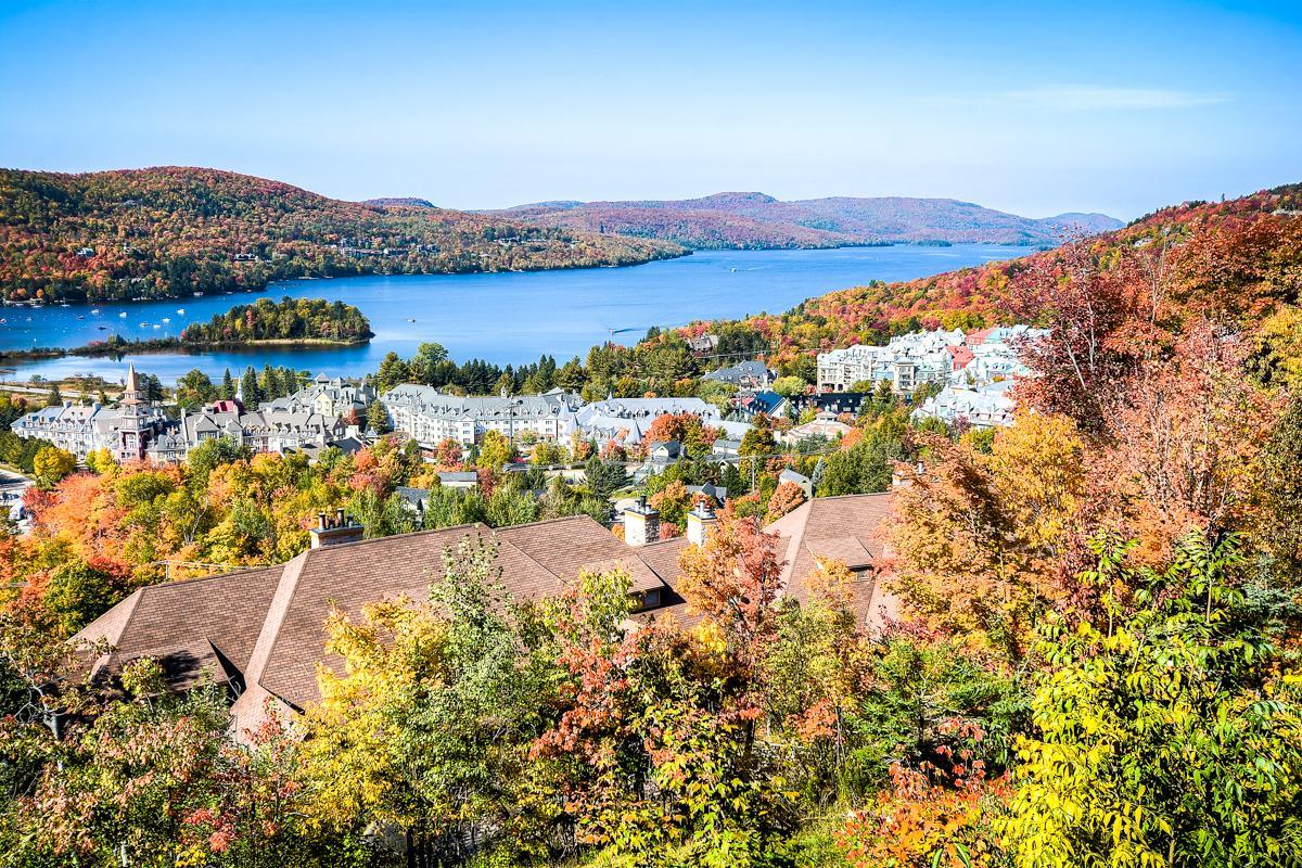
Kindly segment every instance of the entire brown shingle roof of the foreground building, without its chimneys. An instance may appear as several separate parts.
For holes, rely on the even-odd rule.
[[[788,592],[805,597],[803,579],[818,554],[852,567],[867,566],[880,554],[872,534],[887,509],[885,495],[822,498],[769,526],[786,543]],[[697,621],[672,588],[685,539],[630,548],[591,518],[574,517],[496,532],[474,524],[327,545],[275,567],[151,586],[79,635],[117,647],[100,666],[164,658],[168,679],[178,688],[191,685],[204,666],[216,670],[219,679],[242,675],[246,690],[233,712],[237,724],[246,726],[260,716],[266,699],[302,708],[318,696],[318,665],[340,665],[323,648],[331,605],[357,613],[375,600],[424,597],[443,570],[443,550],[467,535],[496,537],[501,582],[516,599],[555,596],[581,571],[621,565],[633,575],[634,591],[661,590],[664,608],[641,613],[638,619],[673,613],[681,622]],[[861,610],[876,601],[874,595],[880,596],[875,584],[871,571],[862,570]]]

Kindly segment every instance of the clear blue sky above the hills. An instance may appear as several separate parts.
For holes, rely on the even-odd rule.
[[[456,208],[1133,217],[1302,181],[1302,1],[0,0],[0,165],[165,164]]]

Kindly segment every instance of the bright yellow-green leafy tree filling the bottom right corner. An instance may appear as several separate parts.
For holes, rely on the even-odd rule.
[[[1185,536],[1163,570],[1092,541],[1100,614],[1051,617],[1004,834],[1017,865],[1302,859],[1302,696],[1277,644],[1295,616],[1245,584],[1241,543]]]

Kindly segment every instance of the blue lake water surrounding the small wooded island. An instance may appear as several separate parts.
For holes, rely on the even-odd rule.
[[[586,357],[591,346],[609,340],[612,331],[617,342],[633,344],[651,325],[781,312],[806,298],[871,280],[911,280],[1027,252],[1027,247],[996,245],[700,251],[628,268],[296,280],[258,294],[99,305],[98,314],[86,305],[7,307],[0,308],[7,320],[0,325],[0,347],[8,350],[82,346],[113,333],[135,340],[176,336],[190,323],[207,321],[262,295],[355,305],[370,319],[375,337],[366,346],[342,349],[68,357],[10,363],[0,368],[0,376],[98,373],[121,380],[128,362],[164,383],[191,368],[216,379],[224,368],[238,373],[249,364],[359,376],[375,371],[389,351],[411,355],[422,341],[443,344],[458,362],[482,358],[518,364],[549,353],[564,363],[574,355]]]

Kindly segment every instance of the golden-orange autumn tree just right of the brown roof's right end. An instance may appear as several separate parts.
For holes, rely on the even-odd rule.
[[[1085,444],[1064,416],[1029,415],[991,454],[924,439],[930,461],[905,470],[893,498],[893,587],[927,623],[1021,657],[1035,619],[1064,596],[1079,541]]]

